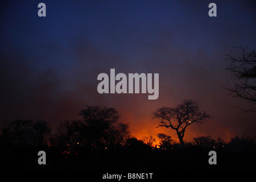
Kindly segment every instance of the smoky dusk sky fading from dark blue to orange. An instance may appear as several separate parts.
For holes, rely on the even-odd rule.
[[[46,17],[38,4],[46,4]],[[208,5],[217,5],[209,17]],[[82,119],[86,105],[115,107],[135,137],[174,130],[155,127],[151,113],[192,99],[212,118],[187,129],[184,140],[210,135],[256,138],[256,114],[228,96],[225,55],[256,48],[255,1],[1,1],[0,126],[43,119],[55,129]],[[97,76],[159,73],[159,97],[99,94]]]

